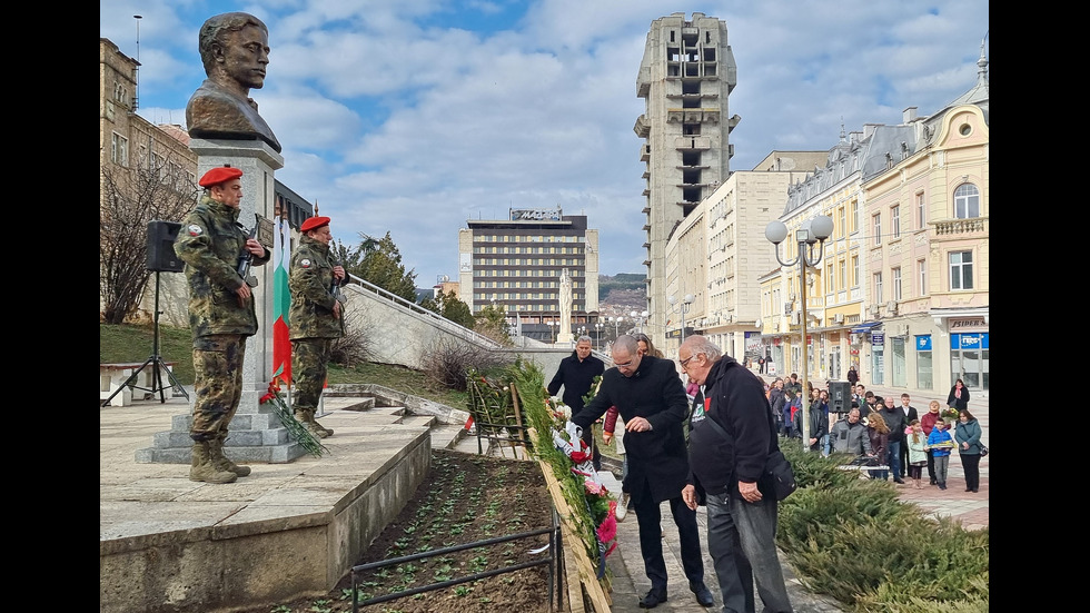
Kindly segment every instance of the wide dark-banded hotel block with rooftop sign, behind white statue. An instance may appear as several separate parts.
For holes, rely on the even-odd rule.
[[[523,335],[549,342],[587,329],[598,312],[598,230],[585,215],[511,209],[508,219],[469,219],[458,231],[459,299],[474,315],[494,305]],[[561,276],[572,278],[572,316],[559,322]],[[552,325],[552,326],[551,326]]]

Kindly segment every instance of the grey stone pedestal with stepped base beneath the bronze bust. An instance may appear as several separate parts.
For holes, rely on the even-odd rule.
[[[189,148],[197,154],[197,176],[212,168],[229,164],[242,171],[242,201],[239,205],[239,223],[247,229],[256,224],[255,214],[265,219],[274,217],[274,172],[284,168],[284,157],[262,140],[206,140],[191,139]],[[271,246],[269,246],[271,248]],[[287,429],[270,408],[260,406],[259,399],[268,390],[272,378],[272,266],[251,268],[258,285],[254,288],[257,307],[257,334],[246,340],[246,359],[242,363],[242,398],[231,419],[230,434],[225,447],[235,461],[290,462],[306,453],[300,445],[288,438]],[[158,433],[153,447],[139,449],[137,462],[188,463],[192,439],[192,405],[197,395],[190,396],[189,412],[178,415],[170,432]]]

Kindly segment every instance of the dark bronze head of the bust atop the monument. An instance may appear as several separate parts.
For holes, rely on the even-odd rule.
[[[198,45],[209,79],[244,95],[265,86],[269,29],[260,19],[245,12],[210,17],[200,27]]]

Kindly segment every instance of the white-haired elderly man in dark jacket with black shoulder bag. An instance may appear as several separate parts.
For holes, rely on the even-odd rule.
[[[688,426],[693,471],[682,497],[695,510],[695,485],[706,492],[707,551],[715,561],[723,610],[754,611],[755,580],[765,612],[790,612],[776,555],[779,503],[764,478],[769,454],[779,448],[764,386],[700,335],[682,343],[677,359],[688,379],[700,384],[697,398],[703,399],[695,403]]]

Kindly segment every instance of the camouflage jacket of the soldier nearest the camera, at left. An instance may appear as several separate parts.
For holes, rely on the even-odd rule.
[[[189,326],[194,339],[211,334],[257,334],[254,296],[239,306],[235,291],[245,283],[238,275],[238,258],[248,233],[238,224],[239,210],[201,196],[197,208],[181,221],[175,253],[186,263],[189,280]],[[260,266],[272,254],[254,256]]]

